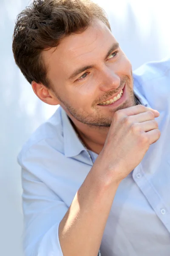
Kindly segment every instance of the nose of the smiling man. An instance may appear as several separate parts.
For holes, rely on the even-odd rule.
[[[116,90],[120,85],[120,77],[116,72],[105,67],[100,76],[99,88],[102,91]]]

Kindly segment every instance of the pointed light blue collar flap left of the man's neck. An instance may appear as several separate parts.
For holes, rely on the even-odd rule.
[[[61,108],[61,107],[60,107]],[[64,136],[64,152],[66,157],[75,157],[85,150],[84,146],[79,140],[77,133],[66,112],[61,108],[62,125],[63,125],[63,136]]]

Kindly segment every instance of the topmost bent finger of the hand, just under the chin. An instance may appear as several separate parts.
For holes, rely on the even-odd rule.
[[[121,111],[122,114],[127,115],[127,116],[137,115],[139,113],[143,113],[143,112],[147,112],[147,111],[153,112],[155,117],[159,116],[159,112],[157,110],[152,109],[152,108],[147,108],[143,105],[136,105],[136,106],[132,106],[129,108],[124,108],[119,111]],[[117,112],[119,112],[119,111],[117,111]]]

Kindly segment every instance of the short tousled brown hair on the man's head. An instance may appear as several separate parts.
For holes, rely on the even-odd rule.
[[[57,47],[71,33],[84,31],[94,18],[111,29],[104,10],[91,0],[34,0],[27,6],[17,16],[12,50],[28,82],[50,87],[42,50]]]

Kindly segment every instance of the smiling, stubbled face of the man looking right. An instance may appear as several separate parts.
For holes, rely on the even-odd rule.
[[[135,105],[131,64],[101,21],[42,56],[54,94],[71,119],[106,127],[117,110]]]

